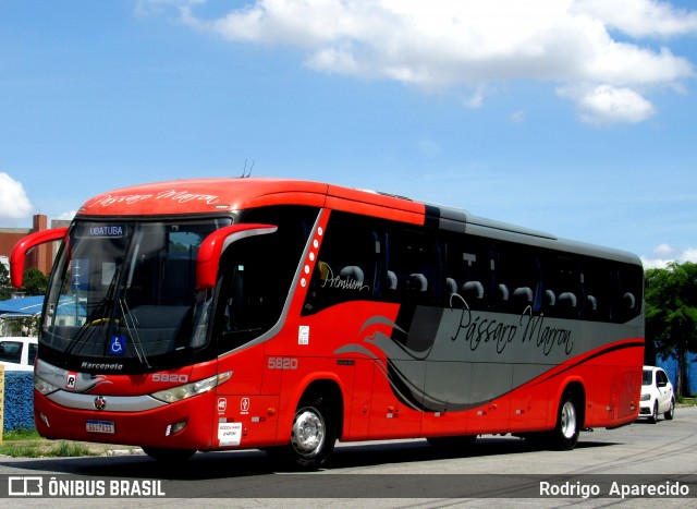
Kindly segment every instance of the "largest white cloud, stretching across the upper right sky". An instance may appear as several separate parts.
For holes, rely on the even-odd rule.
[[[656,0],[257,0],[213,19],[197,16],[201,0],[151,1],[231,41],[296,47],[318,72],[469,90],[469,107],[490,84],[535,80],[587,90],[561,94],[587,122],[641,122],[656,113],[646,94],[695,75],[670,49],[632,43],[697,33],[697,12]]]

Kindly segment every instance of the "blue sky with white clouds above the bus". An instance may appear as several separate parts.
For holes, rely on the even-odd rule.
[[[0,0],[0,228],[246,168],[697,262],[696,76],[692,0]]]

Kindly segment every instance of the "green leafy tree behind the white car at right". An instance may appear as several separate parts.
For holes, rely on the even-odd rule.
[[[677,362],[677,396],[688,392],[687,355],[697,352],[697,264],[670,263],[646,271],[646,338]]]

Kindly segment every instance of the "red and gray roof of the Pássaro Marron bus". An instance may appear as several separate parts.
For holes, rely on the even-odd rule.
[[[601,256],[640,265],[637,256],[470,215],[403,196],[320,182],[272,178],[184,179],[123,187],[86,202],[78,216],[178,216],[232,213],[270,205],[328,207],[442,230]]]

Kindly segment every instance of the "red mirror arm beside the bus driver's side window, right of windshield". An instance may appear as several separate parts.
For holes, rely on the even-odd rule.
[[[277,230],[278,227],[272,225],[242,223],[213,231],[198,249],[196,289],[208,290],[216,286],[220,258],[230,244],[247,237],[264,235]]]

